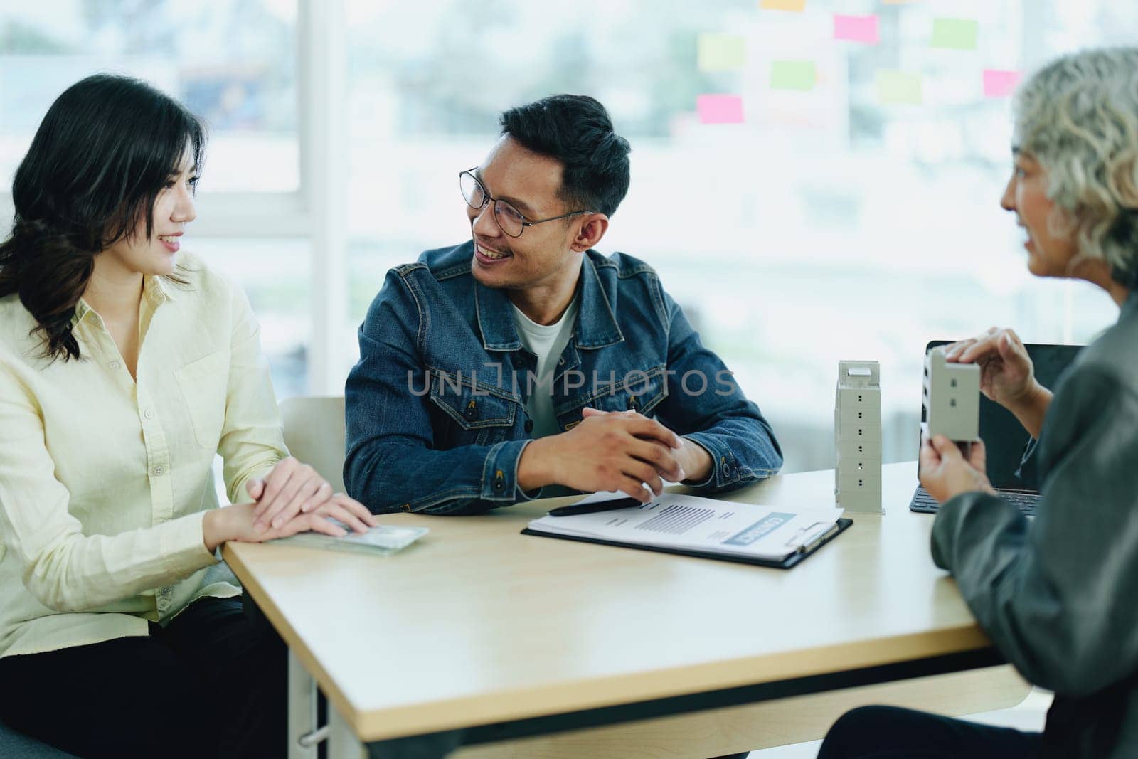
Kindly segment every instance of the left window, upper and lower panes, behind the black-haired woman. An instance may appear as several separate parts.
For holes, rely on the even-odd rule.
[[[307,387],[310,246],[283,230],[299,205],[295,0],[48,0],[0,10],[0,196],[43,114],[97,72],[170,92],[209,132],[185,245],[238,278],[261,317],[279,391]],[[0,203],[10,218],[9,201]],[[265,208],[279,211],[265,214]]]

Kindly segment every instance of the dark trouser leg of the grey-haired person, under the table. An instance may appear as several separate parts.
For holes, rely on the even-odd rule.
[[[1029,759],[1042,735],[894,707],[848,711],[826,733],[818,759]]]

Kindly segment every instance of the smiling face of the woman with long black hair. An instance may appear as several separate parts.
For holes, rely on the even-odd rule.
[[[176,173],[166,180],[154,200],[154,230],[147,237],[146,217],[139,220],[131,234],[106,248],[107,256],[119,267],[143,275],[166,275],[174,271],[174,259],[181,247],[179,238],[185,225],[197,217],[193,188],[197,166],[193,154],[187,149]]]

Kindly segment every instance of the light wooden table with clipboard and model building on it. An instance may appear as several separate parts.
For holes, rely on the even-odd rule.
[[[706,757],[820,737],[858,703],[1019,703],[1028,684],[990,669],[999,657],[930,559],[933,518],[907,509],[915,464],[882,477],[888,513],[848,514],[789,571],[519,535],[574,498],[385,517],[431,530],[387,558],[233,543],[224,555],[299,665],[294,736],[312,727],[311,675],[335,711],[333,757],[358,756],[356,739],[384,756],[395,739],[447,735],[475,744],[462,757]],[[832,505],[833,472],[725,497]]]

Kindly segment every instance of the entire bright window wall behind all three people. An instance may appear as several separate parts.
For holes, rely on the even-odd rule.
[[[96,71],[152,81],[211,127],[187,246],[248,290],[280,396],[335,393],[385,272],[469,237],[456,174],[498,113],[589,93],[633,143],[601,250],[657,267],[773,421],[787,471],[832,463],[841,358],[881,361],[885,457],[912,459],[927,340],[1006,324],[1085,343],[1114,317],[1090,286],[1024,270],[998,207],[1007,75],[984,82],[1132,43],[1138,5],[765,5],[8,3],[0,211],[59,91]],[[739,98],[718,118],[742,123],[704,123],[709,94]]]

